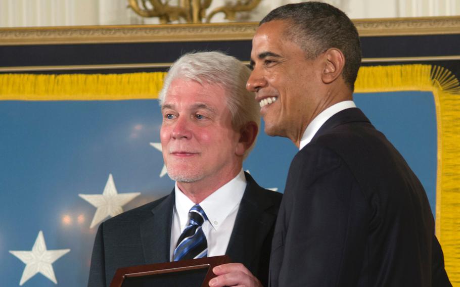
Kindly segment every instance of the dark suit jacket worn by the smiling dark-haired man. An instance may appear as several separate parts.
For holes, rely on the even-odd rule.
[[[359,109],[294,157],[270,286],[451,286],[422,184]]]

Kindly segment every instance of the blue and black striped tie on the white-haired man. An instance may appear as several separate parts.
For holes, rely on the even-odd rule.
[[[200,205],[194,205],[189,211],[189,222],[180,234],[174,250],[174,261],[195,259],[208,256],[208,242],[201,225],[208,220]]]

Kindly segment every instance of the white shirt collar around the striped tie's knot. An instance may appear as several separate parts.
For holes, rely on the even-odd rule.
[[[200,202],[201,208],[203,208],[214,229],[217,230],[223,220],[239,206],[245,189],[246,177],[243,169],[241,169],[235,178]],[[175,209],[179,216],[179,225],[182,227],[187,224],[189,211],[195,203],[180,191],[177,182],[175,183],[174,194]]]

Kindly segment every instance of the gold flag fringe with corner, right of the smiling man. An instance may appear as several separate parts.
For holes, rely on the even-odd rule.
[[[436,235],[447,274],[460,285],[460,84],[447,69],[431,65],[361,67],[355,92],[432,91],[436,107],[438,167]]]

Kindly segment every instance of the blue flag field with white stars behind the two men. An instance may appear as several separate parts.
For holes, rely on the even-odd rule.
[[[410,114],[404,107],[413,101],[420,109]],[[430,95],[356,94],[355,102],[415,167],[434,210]],[[420,123],[420,115],[427,120]],[[174,186],[161,154],[161,120],[157,100],[0,102],[0,285],[87,284],[99,224]],[[408,132],[424,145],[411,146]],[[243,168],[283,192],[296,152],[262,126]]]

